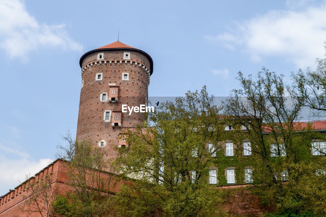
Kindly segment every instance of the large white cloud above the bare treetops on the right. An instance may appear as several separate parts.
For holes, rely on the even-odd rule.
[[[254,62],[276,56],[305,68],[314,65],[316,57],[324,57],[325,36],[326,7],[323,5],[300,12],[270,11],[238,23],[231,33],[205,38],[229,49],[244,50]]]

